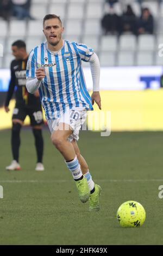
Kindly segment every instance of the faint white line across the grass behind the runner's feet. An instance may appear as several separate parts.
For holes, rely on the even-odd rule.
[[[163,179],[97,180],[98,182],[163,182]],[[70,180],[0,180],[1,183],[60,183]]]

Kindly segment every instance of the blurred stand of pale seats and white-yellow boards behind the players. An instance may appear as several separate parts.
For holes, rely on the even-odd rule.
[[[3,111],[5,91],[8,89],[10,78],[8,69],[13,59],[11,44],[17,39],[23,39],[30,52],[34,46],[45,40],[42,34],[42,17],[47,13],[56,13],[64,23],[64,38],[84,42],[99,56],[102,67],[100,87],[103,111],[112,113],[112,131],[162,130],[160,77],[163,73],[163,57],[159,56],[159,45],[163,43],[163,2],[149,0],[140,3],[136,0],[120,0],[114,4],[115,13],[122,15],[127,4],[131,5],[137,17],[141,15],[141,8],[149,8],[154,17],[153,34],[104,35],[101,19],[109,12],[109,4],[104,0],[33,0],[30,14],[34,20],[16,20],[16,17],[11,17],[9,21],[1,20],[1,129],[11,126],[11,112],[5,114]],[[91,74],[87,68],[89,64],[83,63],[83,66],[87,87],[91,89]],[[11,101],[10,108],[13,107],[14,102]],[[27,118],[26,124],[28,123]]]

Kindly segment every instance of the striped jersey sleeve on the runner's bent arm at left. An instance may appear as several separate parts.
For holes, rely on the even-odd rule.
[[[27,62],[27,69],[26,69],[26,77],[27,78],[35,78],[35,70],[36,70],[36,60],[35,60],[35,53],[32,50],[29,54],[28,62]]]

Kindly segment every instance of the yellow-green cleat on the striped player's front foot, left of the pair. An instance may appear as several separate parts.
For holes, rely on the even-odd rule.
[[[82,203],[86,203],[90,197],[89,186],[87,185],[87,180],[83,177],[82,180],[76,181],[76,186],[79,193],[79,198]]]

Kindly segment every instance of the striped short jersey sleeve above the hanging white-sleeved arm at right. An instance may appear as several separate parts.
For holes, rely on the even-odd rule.
[[[84,60],[84,62],[89,62],[92,54],[94,53],[93,49],[89,48],[85,44],[78,44],[78,43],[76,43],[76,47],[77,47],[80,58]]]

